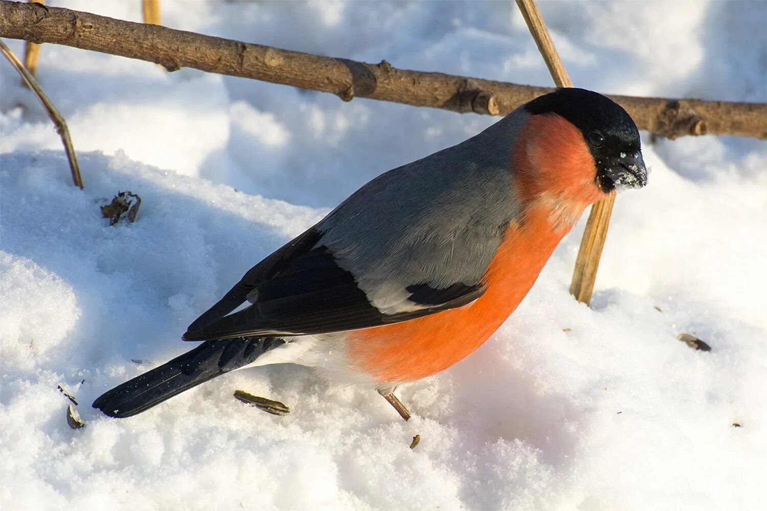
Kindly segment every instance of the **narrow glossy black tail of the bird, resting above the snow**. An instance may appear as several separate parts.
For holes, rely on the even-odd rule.
[[[253,362],[258,355],[283,342],[275,337],[203,342],[192,351],[105,392],[93,406],[110,417],[140,414],[187,388]]]

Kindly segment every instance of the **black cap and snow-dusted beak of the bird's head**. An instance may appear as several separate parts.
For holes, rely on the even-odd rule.
[[[604,192],[647,184],[639,130],[623,107],[591,90],[557,89],[525,104],[533,115],[564,117],[583,134],[597,165],[596,179]]]

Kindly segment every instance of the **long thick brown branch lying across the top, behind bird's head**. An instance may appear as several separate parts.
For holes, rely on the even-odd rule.
[[[193,67],[336,94],[454,112],[505,115],[548,87],[531,87],[442,73],[400,70],[247,44],[193,32],[117,20],[65,8],[0,0],[0,37],[65,44],[156,62],[168,70]],[[767,105],[611,96],[640,129],[669,138],[735,135],[767,139]]]

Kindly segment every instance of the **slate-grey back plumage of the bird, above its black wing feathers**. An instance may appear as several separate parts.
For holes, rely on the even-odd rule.
[[[315,227],[339,266],[384,312],[416,283],[479,282],[519,213],[512,146],[528,117],[515,110],[456,146],[368,182]],[[390,310],[389,310],[390,309]]]

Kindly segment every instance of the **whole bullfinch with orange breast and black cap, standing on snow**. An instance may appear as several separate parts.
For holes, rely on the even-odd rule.
[[[127,418],[234,369],[294,363],[377,390],[407,420],[398,385],[482,346],[588,205],[646,184],[626,110],[555,89],[362,186],[195,319],[183,340],[199,346],[93,406]]]

